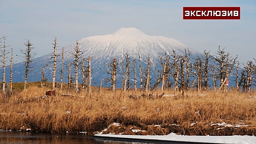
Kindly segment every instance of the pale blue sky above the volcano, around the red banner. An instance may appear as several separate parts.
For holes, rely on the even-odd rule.
[[[183,20],[183,7],[241,7],[241,20]],[[36,57],[93,35],[135,27],[214,54],[220,45],[246,63],[256,58],[256,0],[0,0],[0,37],[14,54],[34,44]],[[2,43],[0,43],[2,44]]]

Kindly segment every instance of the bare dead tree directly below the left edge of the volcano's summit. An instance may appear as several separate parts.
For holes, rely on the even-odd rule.
[[[115,88],[116,88],[116,70],[118,66],[119,66],[119,62],[116,61],[116,58],[112,58],[111,62],[107,65],[109,69],[106,70],[107,74],[111,74],[111,77],[107,78],[105,80],[105,83],[111,82],[111,88],[113,92],[115,91]]]

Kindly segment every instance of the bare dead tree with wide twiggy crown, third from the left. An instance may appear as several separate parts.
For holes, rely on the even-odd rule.
[[[31,63],[32,63],[32,59],[35,57],[36,53],[32,52],[32,49],[34,49],[33,44],[30,43],[29,39],[28,41],[25,43],[26,46],[26,50],[21,50],[21,53],[25,56],[20,56],[23,59],[23,62],[25,62],[25,81],[24,81],[24,90],[26,89],[27,86],[27,79],[28,79],[28,72],[31,71],[30,68],[31,67]]]

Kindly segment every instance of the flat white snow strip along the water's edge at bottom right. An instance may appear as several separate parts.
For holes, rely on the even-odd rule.
[[[114,137],[114,138],[129,138],[129,139],[145,139],[145,140],[166,140],[175,142],[201,142],[201,143],[216,143],[216,144],[256,144],[256,136],[248,135],[233,135],[233,136],[191,136],[191,135],[102,135],[96,134],[97,137]]]

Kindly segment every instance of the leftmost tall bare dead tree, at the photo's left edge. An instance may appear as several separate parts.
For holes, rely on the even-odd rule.
[[[6,85],[6,81],[5,81],[5,66],[6,66],[6,61],[7,61],[7,54],[9,53],[6,48],[8,46],[5,45],[5,37],[2,37],[2,39],[4,39],[4,46],[3,46],[3,49],[0,50],[0,53],[1,53],[1,57],[2,59],[0,60],[1,63],[2,63],[2,67],[3,67],[3,75],[2,75],[2,93],[5,93],[5,85]],[[1,47],[0,47],[1,48]]]

